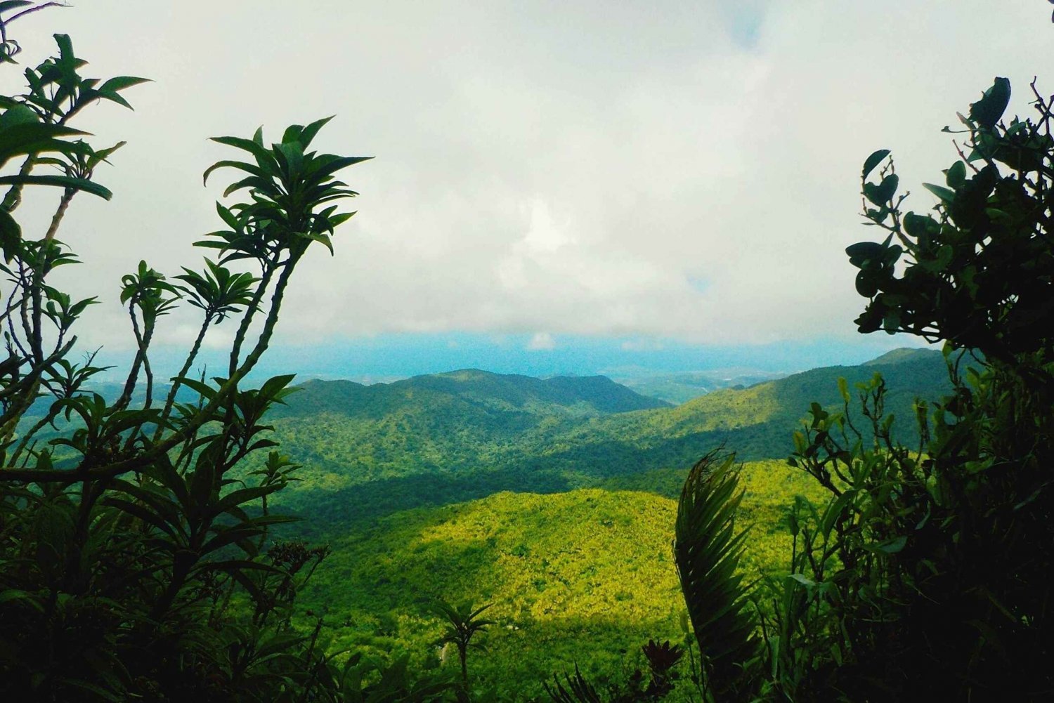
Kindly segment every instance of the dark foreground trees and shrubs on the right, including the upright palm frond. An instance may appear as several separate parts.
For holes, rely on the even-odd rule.
[[[790,510],[788,577],[752,590],[722,571],[739,539],[730,519],[684,532],[678,567],[694,623],[735,612],[748,594],[772,602],[758,621],[763,665],[739,658],[741,686],[765,698],[1054,691],[1054,104],[1034,85],[1033,95],[1038,116],[1008,123],[1010,82],[997,78],[959,116],[959,160],[942,184],[925,184],[932,214],[903,211],[889,151],[863,165],[864,217],[889,234],[846,250],[867,298],[857,325],[942,340],[953,384],[932,406],[917,403],[919,445],[891,438],[880,376],[856,398],[842,382],[842,412],[813,404],[795,435],[792,465],[829,497]],[[721,515],[735,508],[735,474],[694,472],[685,493],[679,525]],[[736,631],[723,649],[752,651],[750,628]]]

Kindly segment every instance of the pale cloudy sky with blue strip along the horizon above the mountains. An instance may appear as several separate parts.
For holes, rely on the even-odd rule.
[[[116,304],[140,258],[201,266],[232,156],[335,115],[316,145],[374,156],[345,180],[358,214],[301,262],[265,368],[329,377],[479,367],[531,374],[859,363],[919,340],[863,337],[843,250],[859,170],[893,150],[910,204],[955,160],[940,129],[1006,76],[1011,112],[1054,47],[1041,0],[356,2],[80,0],[11,28],[36,63],[56,32],[83,73],[153,79],[86,110],[128,144],[59,237],[100,295],[85,348],[132,346]],[[18,71],[0,87],[18,90]],[[233,175],[233,172],[231,172]],[[19,217],[46,226],[56,193]],[[176,364],[197,321],[157,333]],[[233,335],[220,326],[206,358]],[[106,356],[109,355],[109,356]]]

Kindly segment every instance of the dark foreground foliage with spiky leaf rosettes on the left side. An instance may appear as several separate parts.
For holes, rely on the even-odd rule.
[[[19,48],[9,21],[50,4],[0,3],[5,61]],[[318,624],[307,631],[291,624],[297,592],[326,555],[301,542],[268,542],[269,528],[290,519],[273,514],[267,499],[296,466],[271,451],[250,474],[232,473],[275,446],[262,436],[270,429],[264,416],[289,394],[292,376],[255,389],[242,379],[269,345],[308,246],[331,247],[334,228],[351,216],[333,202],[354,192],[333,174],[362,159],[309,151],[327,120],[291,126],[270,147],[259,131],[253,139],[217,138],[252,157],[209,170],[248,172],[225,194],[248,190],[248,199],[217,204],[226,229],[198,243],[220,259],[207,260],[203,272],[184,269],[169,279],[141,262],[122,278],[137,353],[108,401],[85,388],[101,370],[94,355],[70,360],[75,324],[95,298],[74,300],[48,276],[76,262],[57,231],[79,193],[109,197],[93,178],[116,149],[71,139],[84,135],[67,123],[100,99],[129,106],[123,92],[143,80],[84,78],[70,38],[55,38],[58,55],[25,71],[26,92],[0,97],[0,164],[23,157],[16,174],[0,176],[11,185],[0,208],[7,284],[0,313],[7,352],[0,364],[0,695],[333,701],[373,690],[360,685],[352,660],[338,665],[326,653]],[[39,175],[41,167],[60,173]],[[13,215],[22,189],[36,185],[61,194],[39,238]],[[239,260],[256,271],[226,266]],[[151,343],[183,300],[202,312],[200,333],[167,397],[155,401]],[[237,319],[226,376],[190,377],[204,334],[226,317]],[[193,399],[180,401],[187,392]],[[33,407],[43,414],[30,422]],[[44,442],[63,421],[69,431]]]

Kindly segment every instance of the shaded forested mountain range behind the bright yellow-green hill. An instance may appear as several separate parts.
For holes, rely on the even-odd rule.
[[[838,378],[852,389],[876,372],[887,383],[887,409],[901,418],[900,437],[914,443],[912,404],[948,389],[946,367],[930,350],[892,360],[814,369],[678,407],[604,377],[456,371],[375,386],[311,380],[271,421],[282,451],[304,465],[302,481],[281,500],[345,523],[684,468],[722,443],[743,460],[781,458],[811,402],[840,409]]]

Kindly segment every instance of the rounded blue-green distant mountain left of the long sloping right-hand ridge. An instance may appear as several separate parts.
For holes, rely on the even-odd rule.
[[[295,461],[346,483],[492,467],[524,437],[668,407],[603,376],[542,380],[477,370],[299,389],[270,416],[276,438]]]

